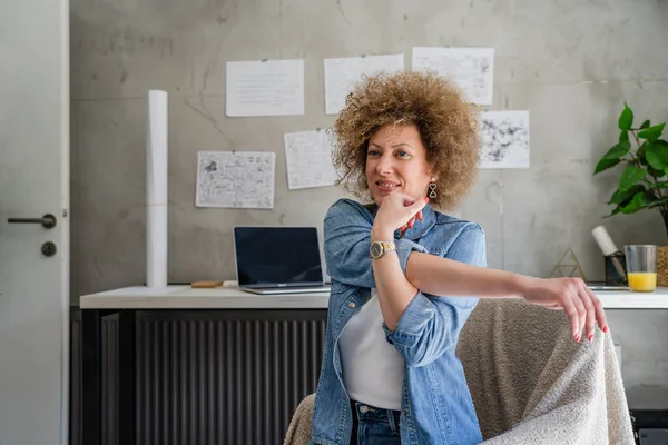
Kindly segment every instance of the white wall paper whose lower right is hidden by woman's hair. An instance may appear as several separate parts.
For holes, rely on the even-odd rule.
[[[346,96],[362,80],[363,75],[403,71],[404,57],[400,53],[325,59],[324,70],[325,113],[336,115],[343,109]]]

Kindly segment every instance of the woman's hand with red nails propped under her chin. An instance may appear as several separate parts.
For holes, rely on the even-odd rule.
[[[422,209],[428,201],[429,198],[414,200],[410,196],[397,191],[389,194],[383,198],[383,202],[376,212],[371,230],[372,237],[374,239],[389,239],[394,237],[394,230],[413,227],[418,214],[420,214],[420,219],[422,218]]]

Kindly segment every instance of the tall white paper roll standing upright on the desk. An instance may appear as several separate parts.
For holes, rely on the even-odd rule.
[[[148,91],[146,285],[167,286],[167,92]]]

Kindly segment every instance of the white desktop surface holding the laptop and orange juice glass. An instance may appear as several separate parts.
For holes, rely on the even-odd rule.
[[[668,287],[654,293],[600,290],[607,309],[668,309]],[[80,298],[81,309],[326,309],[330,294],[255,295],[237,288],[126,287]]]

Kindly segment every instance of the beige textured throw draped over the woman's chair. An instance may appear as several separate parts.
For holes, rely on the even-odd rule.
[[[562,312],[519,299],[480,300],[458,345],[485,445],[633,445],[615,347],[597,328],[576,343]],[[311,437],[313,395],[285,445]]]

